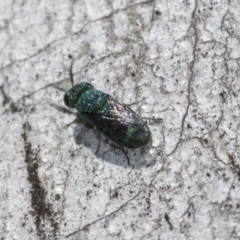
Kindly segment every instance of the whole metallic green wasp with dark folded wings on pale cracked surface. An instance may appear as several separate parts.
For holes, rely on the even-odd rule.
[[[70,76],[73,85],[72,65]],[[65,93],[64,102],[67,107],[76,108],[86,123],[120,145],[123,151],[123,146],[138,148],[150,139],[149,128],[137,113],[110,95],[96,90],[90,83],[73,85]]]

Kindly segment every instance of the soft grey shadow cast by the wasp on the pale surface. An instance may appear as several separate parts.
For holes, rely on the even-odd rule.
[[[74,142],[79,146],[86,146],[97,158],[124,168],[133,167],[135,169],[150,167],[156,163],[156,159],[148,154],[151,149],[151,139],[145,146],[137,149],[125,148],[125,153],[123,153],[121,147],[94,129],[93,126],[84,121],[77,113],[57,104],[51,104],[51,106],[61,113],[75,116],[75,120],[65,125],[65,127],[74,126]]]

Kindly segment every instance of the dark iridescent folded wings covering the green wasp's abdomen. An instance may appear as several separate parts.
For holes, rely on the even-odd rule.
[[[81,116],[113,141],[130,148],[145,145],[150,137],[142,118],[111,96],[97,112],[82,112]]]

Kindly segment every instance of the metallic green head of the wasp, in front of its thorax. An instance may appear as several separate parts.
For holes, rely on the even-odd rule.
[[[74,85],[64,95],[64,103],[67,107],[75,108],[79,97],[86,91],[93,89],[93,86],[87,82],[81,82]]]

